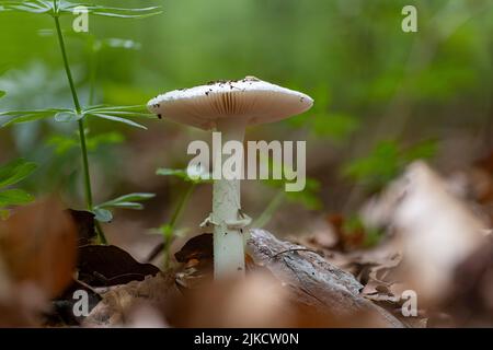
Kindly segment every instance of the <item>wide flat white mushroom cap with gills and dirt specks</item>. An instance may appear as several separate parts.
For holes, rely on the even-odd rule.
[[[170,91],[149,101],[147,107],[158,116],[209,130],[221,118],[234,118],[245,125],[273,122],[303,113],[312,105],[313,100],[303,93],[246,77]]]

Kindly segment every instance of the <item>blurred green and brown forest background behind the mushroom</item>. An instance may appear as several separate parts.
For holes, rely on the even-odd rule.
[[[169,90],[245,75],[316,100],[305,115],[246,136],[308,140],[308,175],[318,185],[283,207],[271,223],[278,231],[299,230],[313,209],[354,210],[411,159],[429,158],[448,171],[493,147],[491,0],[94,2],[162,5],[163,13],[141,20],[90,16],[87,34],[73,33],[72,16],[61,19],[82,104],[90,98],[91,67],[96,67],[94,103],[145,104]],[[417,8],[417,33],[401,30],[405,4]],[[0,110],[71,107],[53,34],[49,16],[0,13],[0,90],[7,92]],[[108,38],[133,42],[94,54],[94,40]],[[103,135],[90,155],[96,200],[125,191],[158,194],[148,210],[116,217],[113,228],[123,226],[118,220],[138,221],[144,229],[164,221],[181,184],[156,176],[156,168],[183,167],[187,143],[208,138],[168,120],[146,125],[147,131],[99,120],[89,125]],[[60,192],[67,206],[80,208],[79,150],[66,138],[76,129],[55,121],[1,128],[0,162],[21,155],[37,162],[22,186],[36,196]],[[210,189],[203,187],[186,210],[191,225],[209,210]],[[245,210],[259,215],[274,196],[275,189],[251,183]],[[288,214],[293,211],[297,214]]]

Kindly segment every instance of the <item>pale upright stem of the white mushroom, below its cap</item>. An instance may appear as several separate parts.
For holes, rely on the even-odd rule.
[[[221,132],[222,144],[227,141],[243,143],[245,124],[232,118],[217,121],[217,131]],[[221,147],[222,149],[222,147]],[[222,150],[215,150],[214,166],[221,166],[226,156]],[[243,153],[241,153],[243,166]],[[214,182],[213,221],[214,221],[214,276],[216,279],[244,275],[243,229],[241,219],[240,178],[226,179],[223,174]]]

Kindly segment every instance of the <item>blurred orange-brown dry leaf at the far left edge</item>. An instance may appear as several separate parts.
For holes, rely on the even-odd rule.
[[[77,229],[55,200],[38,201],[0,221],[0,257],[13,283],[31,282],[47,296],[71,282]]]

